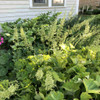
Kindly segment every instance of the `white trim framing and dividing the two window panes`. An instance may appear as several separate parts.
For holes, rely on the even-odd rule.
[[[48,0],[48,6],[41,6],[41,7],[36,7],[33,6],[33,0],[30,1],[30,8],[58,8],[58,7],[66,7],[66,0],[64,0],[64,6],[52,6],[52,0]]]

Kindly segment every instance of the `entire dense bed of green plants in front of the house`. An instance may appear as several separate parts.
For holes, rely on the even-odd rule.
[[[0,100],[100,99],[99,15],[50,14],[2,24]]]

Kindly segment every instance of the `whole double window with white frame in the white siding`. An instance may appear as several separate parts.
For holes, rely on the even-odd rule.
[[[30,6],[32,8],[37,7],[62,7],[66,6],[66,0],[30,0]]]

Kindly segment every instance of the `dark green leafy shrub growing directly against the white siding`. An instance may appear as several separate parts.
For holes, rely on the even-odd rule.
[[[20,28],[22,27],[25,31],[25,34],[29,37],[34,37],[35,41],[40,42],[40,37],[38,36],[38,31],[41,29],[42,25],[51,25],[52,22],[55,21],[57,16],[60,13],[55,13],[50,16],[51,12],[41,14],[40,16],[33,19],[21,19],[19,18],[15,22],[6,22],[1,24],[3,33],[2,35],[5,37],[5,41],[8,42],[9,46],[11,43],[10,38],[12,38],[15,28],[17,28],[18,33],[20,32]]]

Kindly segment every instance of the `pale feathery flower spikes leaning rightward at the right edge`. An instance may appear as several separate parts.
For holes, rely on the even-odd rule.
[[[100,15],[79,16],[72,18],[65,23],[68,28],[66,41],[74,46],[87,46],[96,51],[100,51]]]

